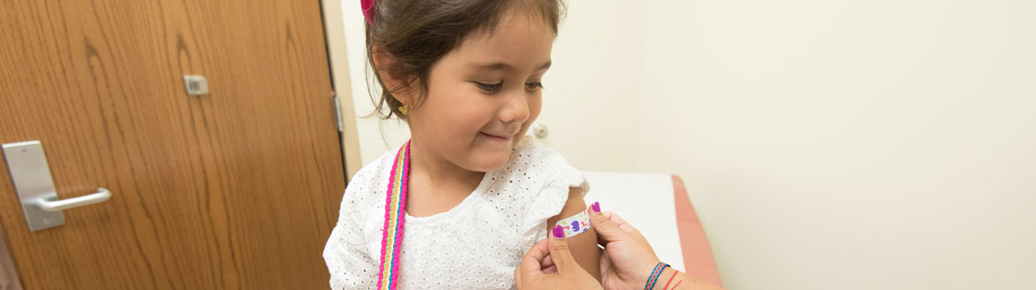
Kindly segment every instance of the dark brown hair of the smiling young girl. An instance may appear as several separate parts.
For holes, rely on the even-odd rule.
[[[492,32],[500,18],[511,9],[526,9],[553,28],[565,15],[563,0],[375,0],[373,25],[367,28],[367,61],[381,88],[374,114],[382,118],[393,115],[405,119],[399,112],[403,106],[393,97],[374,65],[375,53],[387,53],[388,63],[382,68],[386,76],[403,78],[415,95],[428,91],[428,74],[432,64],[456,48],[461,39],[476,30]],[[375,51],[377,50],[377,51]],[[399,77],[396,77],[399,76]],[[373,93],[372,93],[373,100]],[[416,102],[422,102],[419,97]],[[388,107],[388,113],[383,109]]]

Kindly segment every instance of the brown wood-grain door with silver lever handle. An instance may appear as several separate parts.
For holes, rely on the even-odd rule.
[[[0,163],[26,289],[327,288],[345,178],[319,1],[0,1],[0,143],[39,140],[61,199],[112,192],[30,232]]]

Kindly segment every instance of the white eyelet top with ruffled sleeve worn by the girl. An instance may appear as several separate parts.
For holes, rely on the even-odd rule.
[[[385,192],[398,151],[365,166],[345,189],[323,252],[332,289],[377,286]],[[562,211],[570,187],[589,191],[565,157],[523,138],[507,165],[487,172],[454,208],[406,215],[399,289],[514,289],[514,269],[547,237],[547,219]]]

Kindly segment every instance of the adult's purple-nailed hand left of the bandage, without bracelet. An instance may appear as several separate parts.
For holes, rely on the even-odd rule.
[[[515,269],[515,284],[522,290],[603,289],[572,257],[569,241],[560,226],[555,226],[547,239],[533,245],[521,259],[521,265]]]

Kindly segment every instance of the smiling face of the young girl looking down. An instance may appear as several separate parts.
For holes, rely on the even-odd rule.
[[[491,33],[471,32],[432,65],[427,97],[408,116],[427,152],[466,170],[493,171],[540,115],[540,81],[550,67],[554,31],[515,10]]]

